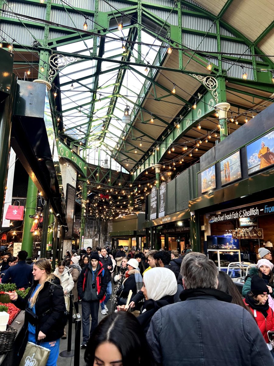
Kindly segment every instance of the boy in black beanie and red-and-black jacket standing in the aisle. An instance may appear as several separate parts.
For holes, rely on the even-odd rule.
[[[77,291],[82,300],[83,342],[81,347],[87,347],[88,338],[98,325],[100,302],[105,299],[107,278],[98,253],[92,253],[90,263],[80,273]],[[91,328],[90,328],[91,315]]]

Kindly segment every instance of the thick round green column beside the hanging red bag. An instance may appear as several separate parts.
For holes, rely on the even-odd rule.
[[[37,193],[37,187],[31,178],[28,177],[26,212],[22,237],[22,250],[26,250],[28,252],[28,262],[31,262],[33,255],[33,233],[30,232],[33,225],[33,219],[31,219],[29,215],[34,215],[36,213]]]

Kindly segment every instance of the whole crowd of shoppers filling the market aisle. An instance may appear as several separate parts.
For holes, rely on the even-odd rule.
[[[24,299],[6,294],[26,311],[28,341],[50,349],[47,366],[56,365],[66,337],[69,294],[82,320],[88,366],[274,366],[274,266],[261,249],[242,295],[205,254],[125,253],[121,246],[66,252],[54,272],[45,258],[26,264],[27,252],[20,251],[2,282],[30,286]],[[4,268],[11,257],[5,253]]]

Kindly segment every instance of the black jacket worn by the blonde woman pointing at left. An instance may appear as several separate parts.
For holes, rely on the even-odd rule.
[[[18,299],[12,301],[15,306],[21,310],[25,310],[28,307],[28,300],[30,299],[38,281],[34,281],[30,288],[27,296],[23,299],[18,296]],[[53,295],[50,295],[50,287],[54,284]],[[46,282],[43,289],[39,292],[38,298],[35,303],[35,314],[39,315],[45,313],[46,311],[52,309],[49,313],[38,318],[38,324],[36,326],[35,339],[38,339],[38,333],[43,332],[46,335],[44,338],[45,342],[55,341],[64,334],[64,326],[61,325],[61,320],[64,317],[64,312],[66,310],[64,291],[60,284],[58,277],[54,277],[52,282]],[[28,321],[25,316],[24,327],[27,330]]]

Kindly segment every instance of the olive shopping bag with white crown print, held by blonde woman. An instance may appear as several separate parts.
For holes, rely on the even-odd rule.
[[[19,366],[46,366],[49,352],[45,347],[28,342]]]

